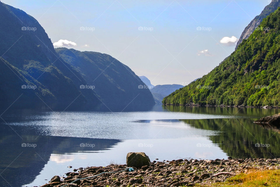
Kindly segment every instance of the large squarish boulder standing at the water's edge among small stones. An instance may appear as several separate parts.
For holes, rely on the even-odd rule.
[[[127,167],[138,167],[141,168],[144,165],[150,165],[150,158],[143,152],[139,153],[127,153],[126,165]]]

